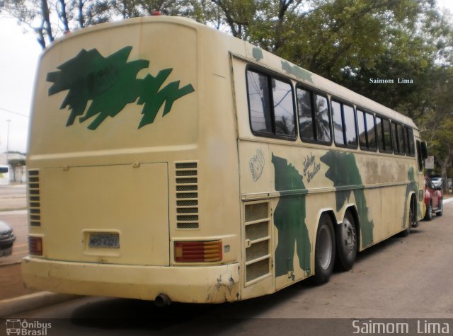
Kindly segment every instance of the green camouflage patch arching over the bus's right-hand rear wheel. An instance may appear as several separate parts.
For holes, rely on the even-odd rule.
[[[362,246],[365,248],[373,243],[374,223],[368,219],[367,199],[365,197],[362,178],[353,153],[328,151],[321,157],[328,170],[326,178],[333,181],[336,187],[337,212],[343,207],[354,192],[357,212],[360,219]],[[344,188],[344,189],[343,189]]]

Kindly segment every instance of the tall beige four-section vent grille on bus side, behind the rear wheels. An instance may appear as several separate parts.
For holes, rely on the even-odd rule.
[[[244,205],[246,286],[271,276],[269,202]]]

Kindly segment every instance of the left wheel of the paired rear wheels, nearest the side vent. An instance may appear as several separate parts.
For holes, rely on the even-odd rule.
[[[336,255],[335,232],[332,219],[328,214],[322,214],[319,219],[314,251],[315,284],[325,284],[331,277]]]

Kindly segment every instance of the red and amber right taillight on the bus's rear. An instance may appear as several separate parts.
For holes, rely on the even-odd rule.
[[[222,260],[222,241],[176,241],[176,262],[213,262]]]

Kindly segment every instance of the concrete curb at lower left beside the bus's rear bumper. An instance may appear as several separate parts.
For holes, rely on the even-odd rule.
[[[5,299],[0,301],[0,318],[6,318],[23,311],[52,306],[52,304],[80,298],[79,295],[56,294],[50,291],[19,296],[17,298]]]

